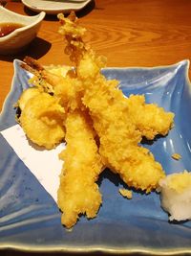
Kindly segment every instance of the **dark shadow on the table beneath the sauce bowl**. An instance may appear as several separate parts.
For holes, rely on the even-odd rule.
[[[35,37],[32,42],[22,52],[15,55],[3,56],[0,55],[1,60],[12,61],[15,58],[23,59],[25,56],[31,56],[32,58],[38,59],[46,55],[51,49],[51,43],[40,38]]]

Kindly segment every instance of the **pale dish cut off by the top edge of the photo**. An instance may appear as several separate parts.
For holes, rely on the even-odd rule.
[[[59,12],[71,12],[83,9],[91,0],[21,0],[22,3],[33,12],[46,12],[57,14]]]

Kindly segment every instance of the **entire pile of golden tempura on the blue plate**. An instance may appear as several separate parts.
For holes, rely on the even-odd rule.
[[[174,114],[145,104],[143,95],[125,98],[118,81],[101,74],[106,58],[96,56],[83,41],[86,30],[78,25],[74,12],[58,18],[74,68],[62,73],[25,58],[22,66],[34,74],[31,81],[40,93],[26,97],[19,121],[32,142],[47,149],[66,139],[66,150],[60,153],[64,164],[57,202],[61,221],[70,228],[81,214],[96,217],[102,202],[96,180],[103,167],[146,193],[158,187],[165,174],[140,141],[143,136],[166,135]]]

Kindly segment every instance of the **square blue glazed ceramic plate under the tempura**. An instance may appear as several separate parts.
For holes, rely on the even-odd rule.
[[[0,116],[0,130],[15,124],[12,105],[29,86],[30,74],[14,61],[11,92]],[[175,113],[175,128],[158,138],[152,151],[167,174],[191,171],[191,87],[189,62],[156,68],[108,68],[103,74],[120,81],[126,96],[145,94],[147,103],[157,103]],[[180,161],[171,155],[179,152]],[[159,195],[133,194],[122,198],[125,186],[117,175],[104,171],[98,180],[103,204],[97,218],[80,218],[71,232],[60,222],[53,198],[0,135],[0,248],[29,251],[111,252],[180,254],[191,252],[191,221],[170,223],[160,208]]]

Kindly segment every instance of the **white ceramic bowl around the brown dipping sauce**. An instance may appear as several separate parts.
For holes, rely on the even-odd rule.
[[[16,29],[9,35],[0,37],[0,54],[16,54],[23,50],[37,35],[45,12],[34,16],[21,15],[0,6],[0,23],[18,23],[23,27]]]

